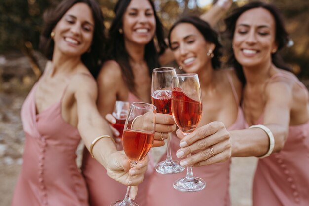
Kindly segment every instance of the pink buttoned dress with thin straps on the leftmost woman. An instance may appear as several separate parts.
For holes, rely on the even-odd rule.
[[[81,140],[77,128],[63,120],[62,98],[36,114],[36,87],[21,109],[26,140],[12,206],[88,206],[86,184],[75,163]]]

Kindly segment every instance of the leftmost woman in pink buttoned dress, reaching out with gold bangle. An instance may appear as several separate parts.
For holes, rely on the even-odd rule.
[[[122,184],[142,182],[148,161],[129,170],[96,107],[92,74],[100,68],[104,44],[97,2],[64,0],[44,17],[41,46],[49,61],[21,110],[26,141],[12,206],[88,206],[86,184],[75,163],[81,138],[108,175]]]

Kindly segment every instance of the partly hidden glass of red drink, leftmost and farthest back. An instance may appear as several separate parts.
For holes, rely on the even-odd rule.
[[[112,113],[113,117],[116,119],[116,123],[111,125],[119,132],[119,136],[115,137],[116,145],[118,150],[122,150],[122,134],[124,123],[128,115],[130,108],[130,102],[126,101],[116,101],[114,106],[114,111]]]

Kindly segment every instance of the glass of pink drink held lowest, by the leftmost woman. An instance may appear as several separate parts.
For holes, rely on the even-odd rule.
[[[131,166],[135,166],[138,161],[142,160],[153,146],[155,114],[156,107],[152,104],[133,102],[130,106],[124,124],[122,144]],[[141,119],[139,123],[143,124],[137,123],[138,119]],[[110,206],[138,206],[131,202],[130,190],[131,186],[128,186],[124,199],[118,200]]]

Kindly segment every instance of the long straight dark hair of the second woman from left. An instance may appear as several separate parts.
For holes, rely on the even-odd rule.
[[[153,12],[154,18],[156,21],[156,30],[155,35],[157,42],[154,41],[154,38],[145,45],[145,54],[144,59],[147,63],[149,75],[151,76],[152,70],[156,67],[160,67],[159,64],[159,55],[164,53],[167,45],[164,41],[164,32],[163,25],[157,16],[154,8],[154,3],[151,0],[148,0]],[[123,33],[119,32],[119,29],[122,28],[122,18],[123,15],[129,6],[131,0],[118,0],[114,8],[115,17],[111,23],[111,28],[108,34],[108,44],[107,44],[107,54],[109,54],[109,59],[115,60],[121,67],[122,77],[131,92],[136,94],[135,83],[134,83],[134,74],[132,67],[129,63],[129,54],[124,44]]]

